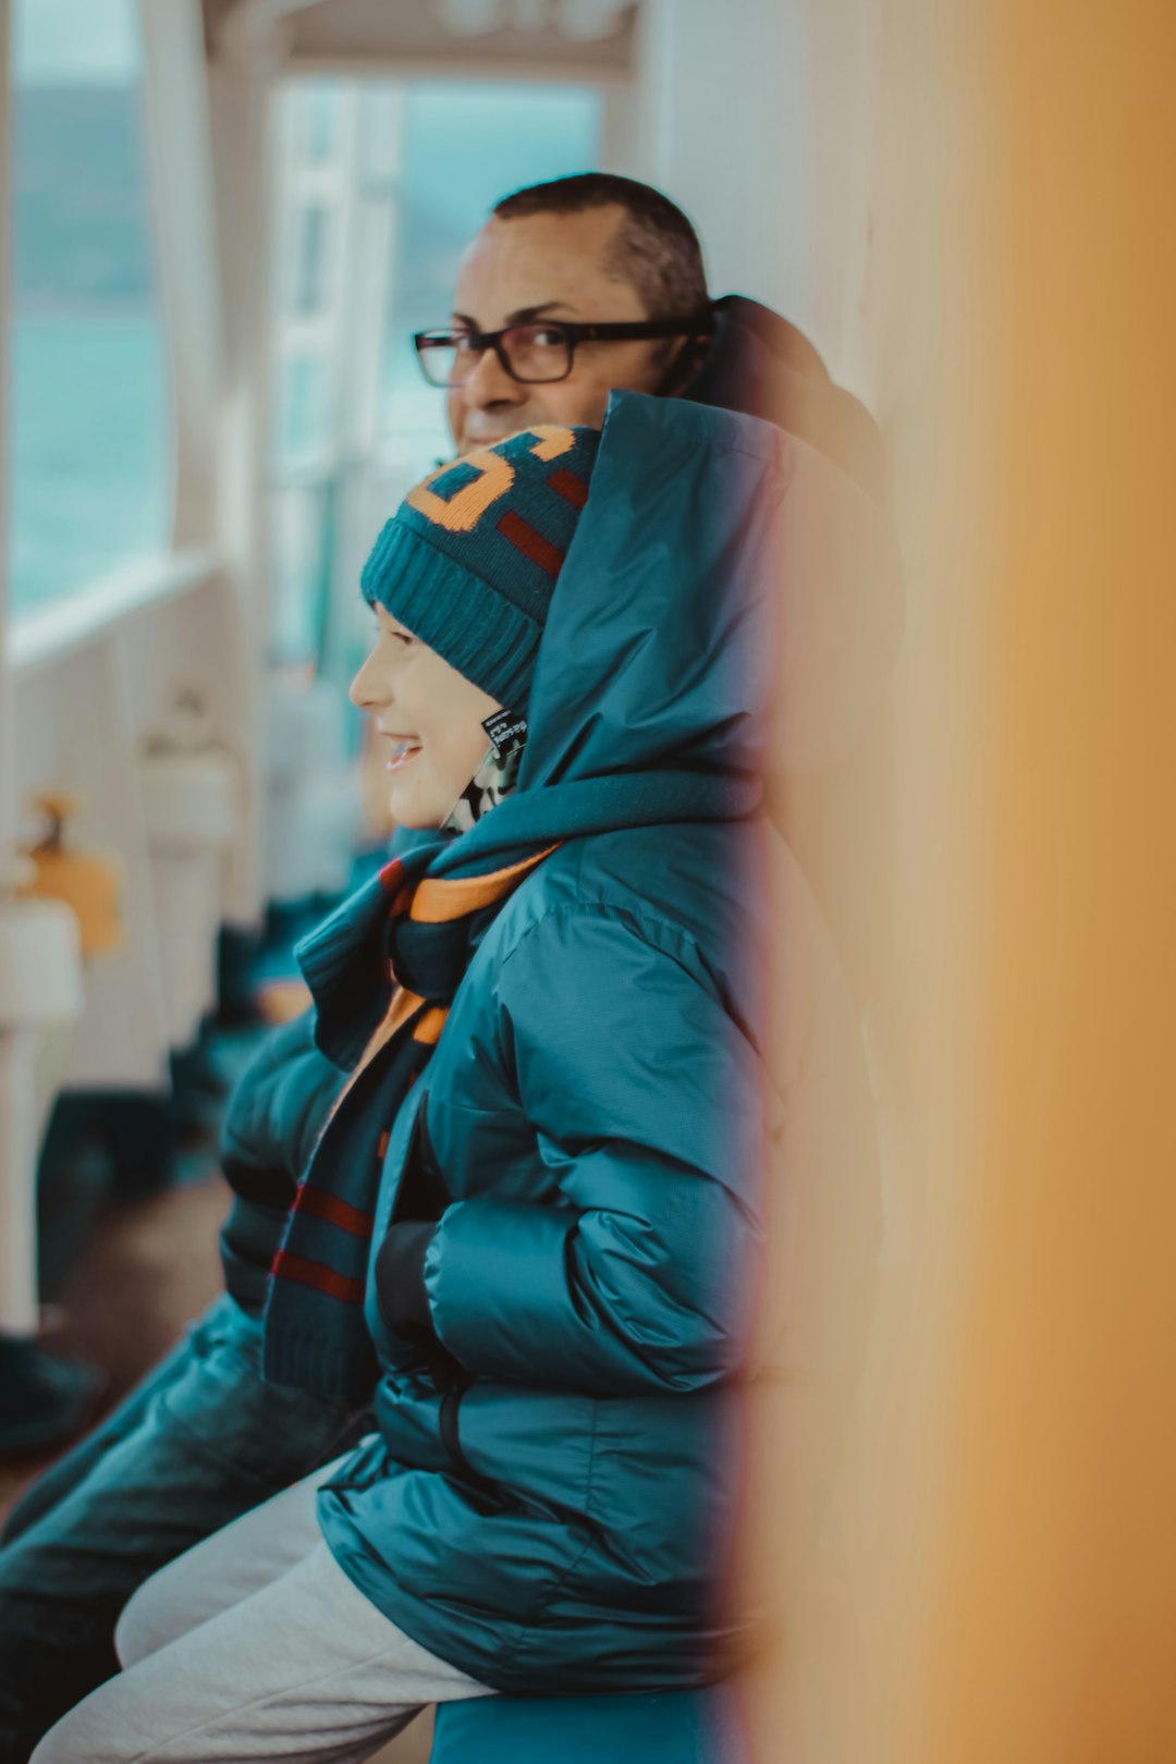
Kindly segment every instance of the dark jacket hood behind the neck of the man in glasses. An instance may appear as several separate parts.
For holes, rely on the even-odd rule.
[[[776,423],[808,441],[883,506],[882,432],[866,406],[834,385],[808,337],[744,295],[725,295],[711,310],[714,337],[679,397]]]

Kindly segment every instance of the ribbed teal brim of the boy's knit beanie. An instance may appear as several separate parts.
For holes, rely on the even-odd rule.
[[[439,552],[400,520],[388,520],[363,566],[360,587],[393,619],[490,693],[524,711],[541,626],[451,554]]]

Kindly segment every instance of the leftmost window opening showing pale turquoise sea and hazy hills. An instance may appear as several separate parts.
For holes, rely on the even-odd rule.
[[[16,616],[167,543],[171,427],[134,0],[16,0]]]

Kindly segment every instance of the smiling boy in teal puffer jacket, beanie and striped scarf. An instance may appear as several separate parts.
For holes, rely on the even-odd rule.
[[[353,695],[397,818],[465,831],[303,946],[351,1076],[264,1330],[277,1381],[376,1374],[377,1432],[155,1575],[39,1764],[360,1759],[423,1700],[730,1663],[786,475],[666,409],[444,467],[376,545]]]

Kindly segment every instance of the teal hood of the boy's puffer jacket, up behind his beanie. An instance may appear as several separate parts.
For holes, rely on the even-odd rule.
[[[890,529],[830,460],[753,416],[614,393],[518,794],[823,764],[876,704],[899,628]]]

